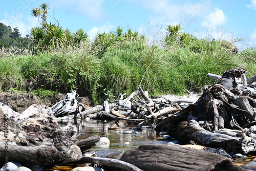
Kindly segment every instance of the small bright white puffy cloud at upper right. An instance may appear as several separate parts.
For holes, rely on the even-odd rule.
[[[207,15],[204,21],[201,23],[201,26],[208,27],[208,28],[215,28],[225,24],[226,20],[227,20],[227,17],[224,14],[224,12],[219,8],[215,8],[215,12],[212,12],[209,15]]]

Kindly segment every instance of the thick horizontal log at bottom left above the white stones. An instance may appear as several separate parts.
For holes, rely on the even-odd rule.
[[[4,161],[5,155],[8,155],[9,161],[43,166],[66,164],[82,158],[81,150],[76,145],[56,148],[54,145],[21,146],[2,141],[0,142],[0,160]]]

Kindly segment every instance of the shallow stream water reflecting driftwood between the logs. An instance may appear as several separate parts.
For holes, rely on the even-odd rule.
[[[178,141],[174,138],[162,138],[156,135],[155,131],[151,129],[145,129],[141,131],[135,131],[133,134],[123,134],[125,129],[132,129],[136,125],[129,125],[125,129],[110,130],[110,127],[116,127],[115,121],[101,121],[101,120],[80,120],[80,119],[66,119],[58,120],[61,126],[65,126],[68,123],[72,123],[77,127],[77,139],[88,138],[93,135],[100,137],[107,137],[110,140],[110,146],[94,146],[91,151],[97,152],[98,156],[105,157],[109,154],[125,151],[127,149],[136,148],[142,144],[158,144]]]

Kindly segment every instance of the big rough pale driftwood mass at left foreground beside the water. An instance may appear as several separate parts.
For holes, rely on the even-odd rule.
[[[60,127],[53,118],[51,108],[41,104],[31,105],[16,118],[6,116],[0,118],[2,161],[8,154],[10,161],[44,166],[66,164],[79,161],[82,158],[81,151],[89,149],[100,139],[98,136],[81,141],[72,139],[76,127],[71,124]]]

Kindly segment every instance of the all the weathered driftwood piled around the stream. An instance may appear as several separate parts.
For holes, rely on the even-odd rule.
[[[156,132],[168,132],[180,142],[191,140],[204,146],[223,148],[228,154],[256,151],[256,77],[246,79],[243,69],[227,70],[215,85],[203,87],[198,100],[149,98],[141,87],[115,103],[86,109],[76,100],[76,91],[51,108],[33,104],[22,114],[0,103],[0,160],[43,166],[65,163],[93,163],[106,170],[243,170],[227,157],[180,146],[142,145],[109,158],[84,156],[100,140],[92,136],[76,139],[76,127],[60,127],[56,117],[115,119],[129,124],[151,125]],[[181,103],[190,103],[188,106]],[[119,157],[118,157],[119,156]],[[207,156],[207,157],[206,157]],[[146,164],[145,164],[146,163]],[[183,163],[183,164],[182,164]]]

